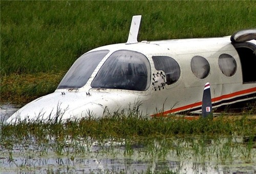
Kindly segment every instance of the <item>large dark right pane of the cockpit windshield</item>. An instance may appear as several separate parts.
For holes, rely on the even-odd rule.
[[[146,56],[129,50],[114,52],[93,80],[92,88],[145,91],[150,86],[151,68]]]

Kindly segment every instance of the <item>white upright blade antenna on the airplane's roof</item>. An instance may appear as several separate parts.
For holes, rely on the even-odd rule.
[[[140,28],[141,15],[133,16],[128,40],[125,44],[136,44],[138,43],[138,34]]]

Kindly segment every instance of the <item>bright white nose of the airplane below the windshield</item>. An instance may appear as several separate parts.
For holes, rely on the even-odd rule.
[[[15,124],[23,121],[59,121],[103,113],[103,106],[90,102],[91,99],[76,93],[63,95],[61,92],[55,92],[26,104],[6,122]]]

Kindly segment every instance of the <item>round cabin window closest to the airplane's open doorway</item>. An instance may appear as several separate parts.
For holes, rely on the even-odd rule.
[[[218,58],[219,68],[227,77],[231,77],[237,72],[237,61],[230,54],[223,53]]]

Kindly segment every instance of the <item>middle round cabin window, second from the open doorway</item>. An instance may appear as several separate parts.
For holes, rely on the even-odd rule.
[[[208,60],[202,56],[194,56],[190,61],[190,68],[193,74],[199,79],[205,79],[210,73],[210,64]]]

